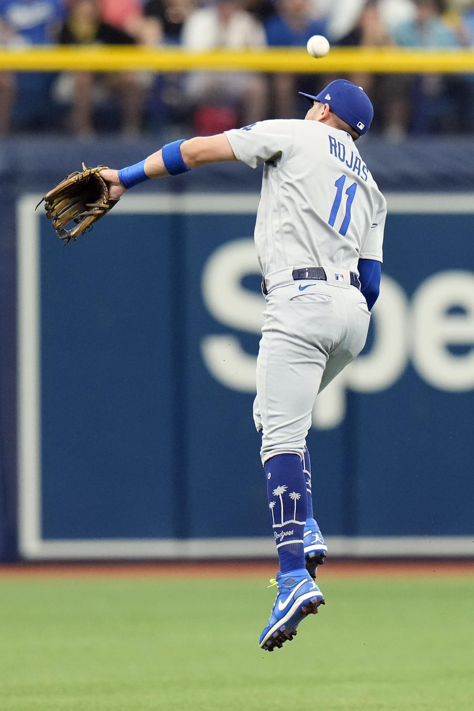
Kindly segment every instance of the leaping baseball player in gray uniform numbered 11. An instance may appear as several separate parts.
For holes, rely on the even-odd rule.
[[[379,293],[386,203],[355,141],[372,122],[361,87],[336,80],[304,120],[262,121],[174,141],[101,175],[110,198],[148,180],[206,164],[264,165],[255,244],[266,311],[254,420],[279,555],[278,591],[260,646],[296,634],[324,603],[314,582],[326,545],[313,517],[306,435],[316,395],[362,350]],[[223,275],[225,278],[225,275]]]

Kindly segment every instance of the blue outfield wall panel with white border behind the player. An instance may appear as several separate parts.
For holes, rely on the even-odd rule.
[[[242,166],[196,176],[127,194],[63,247],[33,210],[45,177],[38,189],[23,173],[22,557],[273,550],[252,421],[258,176]],[[340,554],[436,555],[442,536],[453,537],[446,553],[472,555],[474,200],[390,187],[370,337],[318,397],[308,434],[316,513]],[[15,314],[5,311],[2,343]],[[6,353],[4,374],[11,343]],[[2,427],[8,412],[3,397]],[[0,556],[11,557],[17,467],[11,443],[4,450]]]

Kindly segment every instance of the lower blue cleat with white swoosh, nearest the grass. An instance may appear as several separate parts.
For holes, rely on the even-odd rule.
[[[259,640],[262,649],[269,652],[293,639],[301,620],[316,614],[318,606],[325,604],[323,593],[304,568],[277,573],[270,582],[278,585],[278,594]]]

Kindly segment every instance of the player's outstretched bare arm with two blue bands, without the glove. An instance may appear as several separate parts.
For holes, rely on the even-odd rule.
[[[179,175],[199,166],[225,161],[237,161],[237,158],[225,134],[217,134],[189,141],[174,141],[134,166],[120,171],[107,168],[100,171],[100,174],[107,183],[110,198],[118,200],[127,188],[149,178]]]

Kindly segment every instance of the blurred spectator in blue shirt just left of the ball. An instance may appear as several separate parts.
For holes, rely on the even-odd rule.
[[[304,47],[312,35],[325,35],[325,18],[313,18],[309,0],[276,0],[276,15],[264,24],[266,43],[276,47]],[[287,119],[296,114],[298,89],[314,90],[314,76],[279,73],[273,83],[274,117]],[[308,85],[308,86],[306,86]]]

